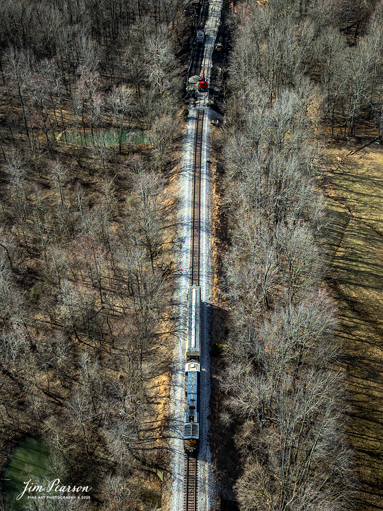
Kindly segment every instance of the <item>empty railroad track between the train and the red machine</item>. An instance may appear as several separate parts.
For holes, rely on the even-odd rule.
[[[190,246],[190,286],[200,285],[201,164],[204,111],[199,109],[197,112],[196,140],[194,146],[192,243]]]

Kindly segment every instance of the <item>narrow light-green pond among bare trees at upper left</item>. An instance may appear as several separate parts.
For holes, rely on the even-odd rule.
[[[104,128],[104,129],[93,129],[94,143],[102,143],[105,146],[117,146],[118,145],[118,132],[116,129]],[[90,130],[75,131],[66,130],[60,133],[57,137],[60,142],[67,142],[68,144],[77,144],[81,146],[93,145],[92,134]],[[146,144],[148,142],[146,131],[139,128],[132,128],[125,131],[122,136],[123,144]]]

